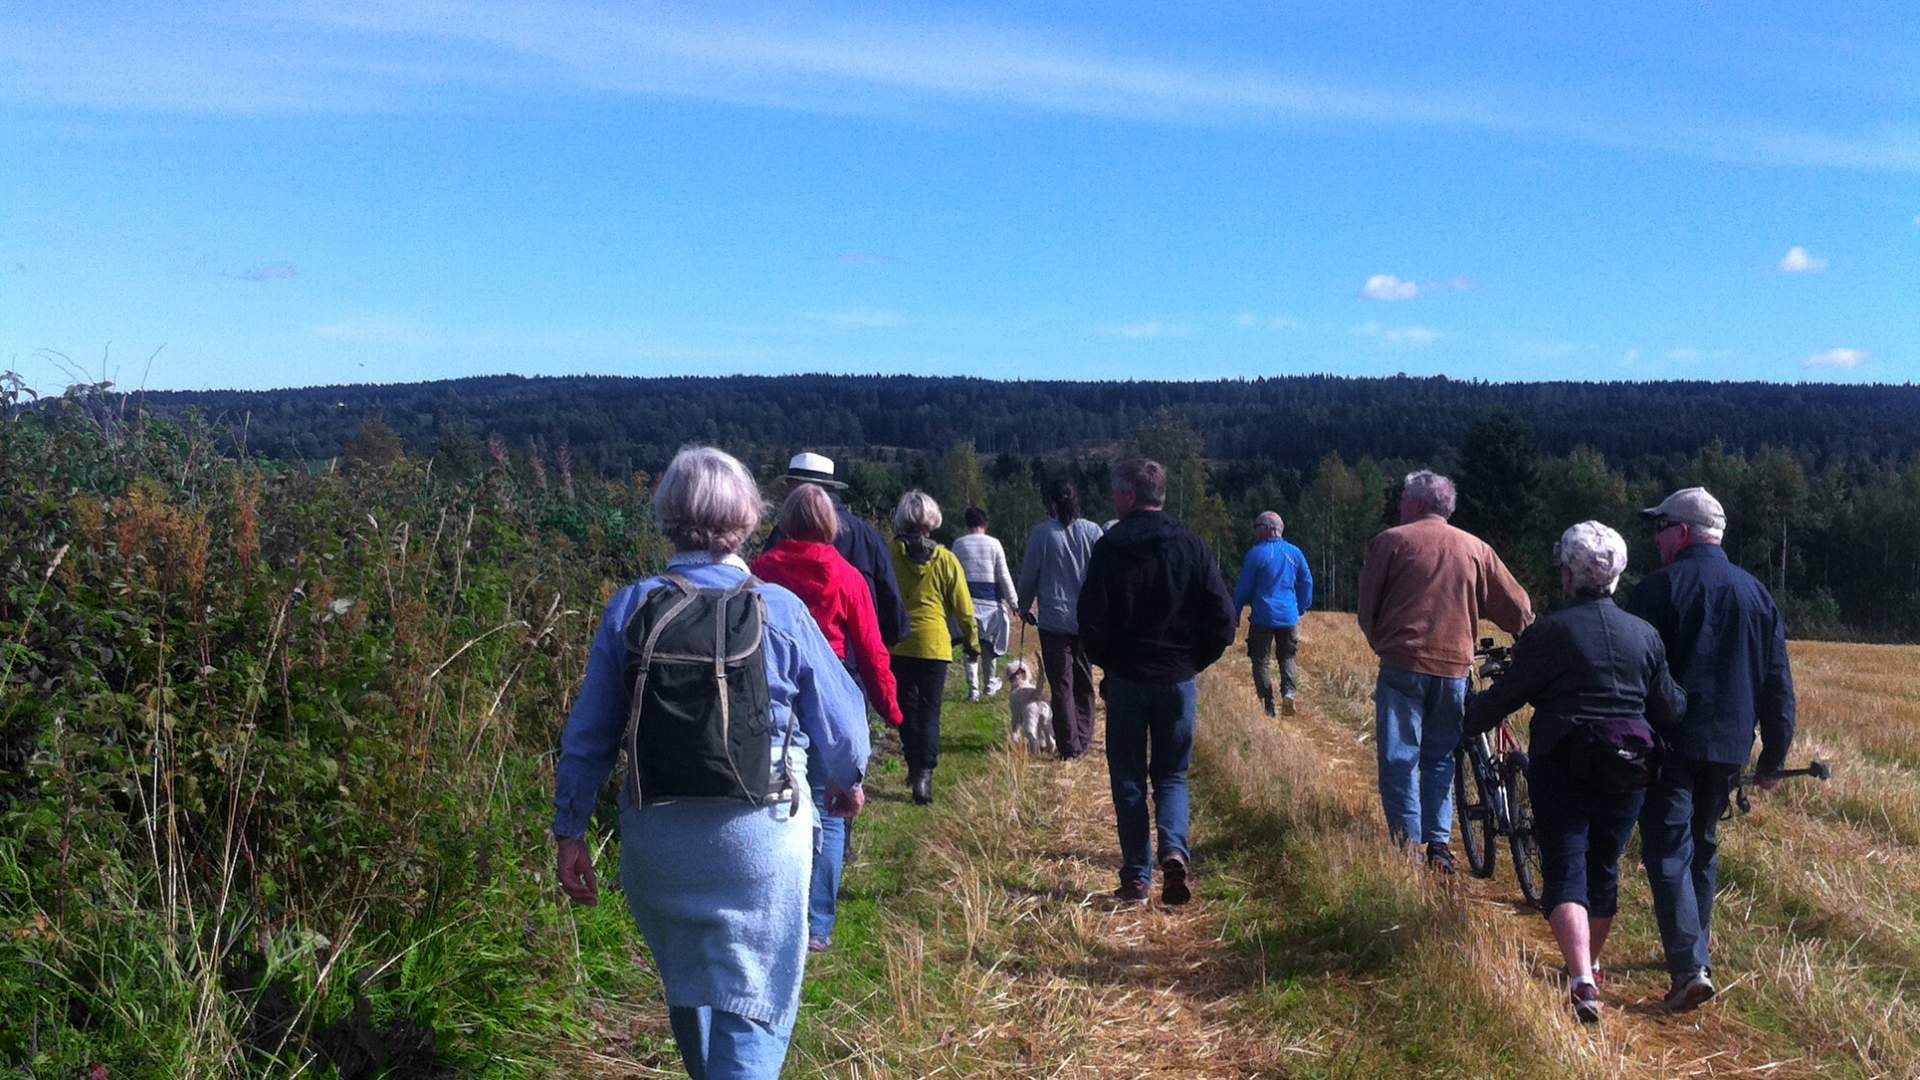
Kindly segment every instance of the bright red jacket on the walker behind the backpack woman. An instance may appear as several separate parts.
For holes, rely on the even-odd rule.
[[[753,561],[753,577],[778,584],[801,598],[833,655],[847,659],[852,650],[854,673],[866,701],[893,726],[900,726],[900,701],[893,682],[887,642],[879,638],[874,590],[831,544],[781,540]]]

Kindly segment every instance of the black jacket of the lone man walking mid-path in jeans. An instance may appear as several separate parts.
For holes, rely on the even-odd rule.
[[[1187,682],[1233,644],[1233,594],[1198,536],[1137,509],[1092,546],[1079,628],[1087,657],[1108,675]]]

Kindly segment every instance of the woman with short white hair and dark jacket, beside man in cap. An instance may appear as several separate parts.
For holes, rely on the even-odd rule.
[[[1521,636],[1507,675],[1467,705],[1467,732],[1534,707],[1526,784],[1546,878],[1540,907],[1567,959],[1572,1013],[1596,1022],[1620,851],[1657,769],[1659,732],[1686,713],[1686,694],[1667,671],[1659,632],[1613,603],[1626,569],[1620,534],[1582,521],[1553,555],[1569,605]]]

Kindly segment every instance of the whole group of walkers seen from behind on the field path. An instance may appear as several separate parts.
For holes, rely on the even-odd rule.
[[[1106,703],[1121,849],[1114,896],[1144,903],[1158,867],[1162,903],[1179,905],[1192,896],[1194,678],[1235,642],[1238,613],[1250,609],[1256,692],[1269,717],[1290,715],[1298,623],[1313,603],[1308,561],[1283,540],[1277,513],[1254,521],[1256,544],[1229,594],[1208,548],[1164,511],[1165,471],[1148,459],[1116,465],[1108,528],[1081,517],[1069,482],[1052,484],[1050,517],[1033,528],[1018,580],[977,507],[947,548],[933,540],[943,515],[925,492],[900,498],[887,540],[849,513],[831,459],[799,454],[785,484],[776,528],[749,565],[741,550],[764,513],[753,475],[712,448],[674,457],[653,496],[674,553],[662,575],[607,605],[561,736],[561,886],[578,903],[597,901],[586,832],[624,753],[622,894],[695,1078],[776,1076],[785,1059],[804,959],[831,947],[852,821],[866,801],[868,707],[899,728],[910,798],[931,803],[954,650],[966,659],[968,698],[993,698],[1012,623],[1037,626],[1062,759],[1089,751],[1094,696]],[[1407,477],[1402,525],[1375,538],[1361,575],[1359,623],[1380,655],[1380,801],[1396,842],[1411,851],[1425,844],[1427,865],[1450,871],[1463,723],[1536,707],[1532,780],[1549,915],[1582,1019],[1597,1017],[1615,863],[1636,815],[1674,969],[1668,1003],[1692,1007],[1713,994],[1715,821],[1751,749],[1755,711],[1766,728],[1763,769],[1778,767],[1791,740],[1778,613],[1718,553],[1718,503],[1690,492],[1649,511],[1672,563],[1630,603],[1651,626],[1609,600],[1626,563],[1619,534],[1582,523],[1559,552],[1571,607],[1528,630],[1524,590],[1486,544],[1446,523],[1453,490],[1432,473]],[[1511,675],[1469,715],[1482,617],[1521,644]],[[1277,692],[1269,655],[1279,659]],[[1613,732],[1613,721],[1638,721],[1667,744],[1644,796],[1611,776],[1597,784],[1565,749],[1603,748],[1586,734]]]

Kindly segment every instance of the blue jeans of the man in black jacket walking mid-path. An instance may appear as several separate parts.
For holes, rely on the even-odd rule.
[[[1114,675],[1106,696],[1106,773],[1119,824],[1119,880],[1154,878],[1146,846],[1146,788],[1154,790],[1160,861],[1187,863],[1187,767],[1194,759],[1194,680],[1156,684]]]

